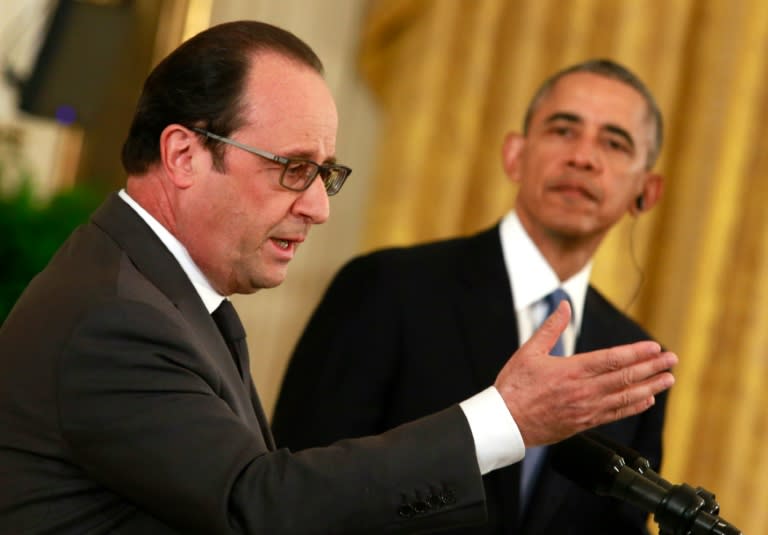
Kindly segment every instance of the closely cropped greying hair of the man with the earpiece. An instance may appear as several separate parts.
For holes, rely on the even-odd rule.
[[[544,80],[528,104],[528,109],[526,110],[525,118],[523,119],[523,133],[528,133],[528,129],[531,126],[531,119],[538,108],[541,99],[552,90],[561,78],[577,72],[588,72],[612,80],[618,80],[619,82],[623,82],[632,87],[642,95],[648,106],[648,116],[652,120],[654,126],[654,136],[646,157],[646,168],[651,169],[659,157],[661,143],[664,137],[664,123],[661,117],[661,110],[659,109],[658,104],[656,104],[656,99],[653,98],[653,94],[648,90],[643,81],[628,68],[610,59],[590,59],[577,63],[557,71],[555,74]]]

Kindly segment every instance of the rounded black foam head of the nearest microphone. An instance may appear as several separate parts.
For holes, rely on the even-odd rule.
[[[549,458],[555,470],[600,495],[608,494],[625,466],[624,459],[584,434],[550,446]]]

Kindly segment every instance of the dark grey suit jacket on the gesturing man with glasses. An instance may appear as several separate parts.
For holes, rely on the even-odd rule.
[[[299,454],[271,447],[259,412],[176,260],[113,196],[0,329],[0,533],[381,533],[485,519],[456,406]]]

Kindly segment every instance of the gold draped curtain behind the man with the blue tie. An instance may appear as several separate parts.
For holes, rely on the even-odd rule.
[[[469,234],[514,190],[501,140],[560,67],[611,57],[666,122],[661,203],[604,242],[593,281],[678,353],[663,474],[768,531],[768,3],[378,0],[361,67],[382,129],[365,248]]]

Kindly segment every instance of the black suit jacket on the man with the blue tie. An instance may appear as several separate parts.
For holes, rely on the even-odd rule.
[[[336,276],[300,339],[275,409],[279,445],[380,432],[490,386],[519,345],[498,227],[470,238],[357,258]],[[649,339],[594,288],[577,352]],[[604,426],[658,468],[666,396]],[[435,443],[442,437],[435,436]],[[545,462],[517,511],[519,464],[485,478],[489,523],[456,533],[643,533],[646,515],[577,488]]]

